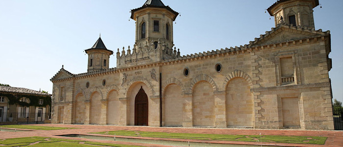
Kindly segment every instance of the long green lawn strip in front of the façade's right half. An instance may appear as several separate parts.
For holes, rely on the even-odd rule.
[[[125,130],[96,132],[93,134],[157,137],[157,138],[198,139],[198,140],[218,140],[218,141],[318,144],[318,145],[324,145],[327,139],[327,137],[317,137],[317,136],[220,135],[220,134],[165,133],[165,132],[144,132],[144,131],[125,131]]]

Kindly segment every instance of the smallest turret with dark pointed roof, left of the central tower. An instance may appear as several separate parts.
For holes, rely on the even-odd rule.
[[[109,58],[113,51],[106,48],[101,37],[99,37],[91,49],[86,49],[85,51],[88,54],[88,72],[108,69]]]

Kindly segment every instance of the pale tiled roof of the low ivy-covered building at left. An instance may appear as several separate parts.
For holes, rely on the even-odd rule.
[[[47,93],[42,93],[39,91],[27,89],[27,88],[19,88],[19,87],[9,87],[9,86],[0,86],[0,92],[6,93],[16,93],[16,94],[24,94],[24,95],[36,95],[36,96],[51,96]]]

